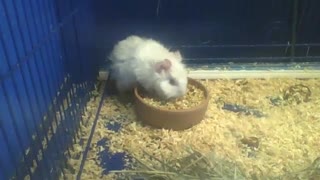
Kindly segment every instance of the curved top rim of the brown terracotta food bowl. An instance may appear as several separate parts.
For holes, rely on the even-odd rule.
[[[150,107],[150,108],[152,108],[152,109],[155,109],[155,110],[157,110],[157,111],[169,112],[169,113],[192,112],[192,111],[198,110],[198,109],[202,108],[203,106],[205,106],[205,105],[209,102],[210,96],[209,96],[208,89],[207,89],[203,84],[201,84],[199,81],[197,81],[197,80],[195,80],[195,79],[193,79],[193,78],[189,78],[189,77],[188,77],[188,79],[189,79],[189,80],[192,80],[192,81],[198,83],[200,86],[202,86],[203,91],[204,91],[204,93],[205,93],[205,98],[202,100],[202,102],[201,102],[199,105],[194,106],[194,107],[192,107],[192,108],[188,108],[188,109],[178,109],[178,110],[169,110],[169,109],[164,109],[164,108],[161,108],[161,107],[158,108],[158,107],[152,106],[152,105],[146,103],[146,102],[142,99],[142,97],[141,97],[140,94],[138,93],[138,86],[135,86],[135,87],[134,87],[134,96],[138,99],[138,101],[140,101],[140,102],[141,102],[142,104],[144,104],[145,106]]]

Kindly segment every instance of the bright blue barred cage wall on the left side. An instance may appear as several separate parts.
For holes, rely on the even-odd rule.
[[[96,71],[86,3],[0,1],[0,179],[63,173]]]

